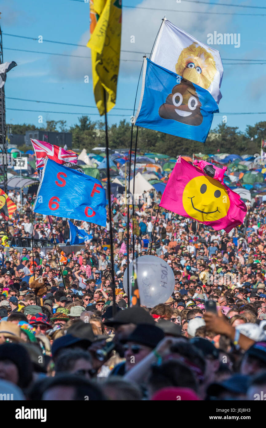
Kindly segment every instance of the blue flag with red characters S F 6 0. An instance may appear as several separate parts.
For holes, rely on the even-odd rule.
[[[33,212],[106,225],[105,189],[99,180],[46,159]]]

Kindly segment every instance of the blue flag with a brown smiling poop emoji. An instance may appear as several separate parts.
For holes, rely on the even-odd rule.
[[[144,59],[140,104],[133,123],[205,143],[219,108],[210,92]]]

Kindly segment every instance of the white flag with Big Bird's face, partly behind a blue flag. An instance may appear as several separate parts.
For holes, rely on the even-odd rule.
[[[223,66],[219,51],[199,42],[167,19],[161,26],[151,60],[207,89],[217,104],[222,98]]]

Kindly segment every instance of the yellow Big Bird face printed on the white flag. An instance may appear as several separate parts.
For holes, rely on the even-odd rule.
[[[181,51],[175,71],[190,82],[208,89],[216,74],[216,64],[212,54],[194,42]]]

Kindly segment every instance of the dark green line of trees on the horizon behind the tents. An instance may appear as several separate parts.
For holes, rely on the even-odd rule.
[[[9,125],[10,126],[10,125]],[[25,134],[25,131],[34,130],[34,125],[13,125],[12,134]],[[105,125],[101,121],[92,122],[88,116],[78,119],[76,125],[66,127],[66,121],[47,121],[42,131],[64,131],[72,133],[72,146],[76,149],[85,148],[91,152],[94,147],[105,146]],[[108,129],[109,145],[111,149],[130,147],[131,124],[126,120],[119,125],[111,125]],[[133,128],[133,147],[135,144],[136,127]],[[140,152],[157,152],[176,157],[181,152],[184,155],[193,153],[236,153],[238,155],[259,153],[261,140],[266,139],[266,122],[258,122],[254,126],[248,125],[245,132],[237,127],[218,125],[208,135],[205,144],[198,141],[174,137],[158,131],[139,128],[137,148]],[[25,146],[20,150],[29,149]],[[184,149],[184,150],[183,150]]]

